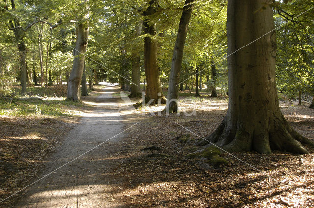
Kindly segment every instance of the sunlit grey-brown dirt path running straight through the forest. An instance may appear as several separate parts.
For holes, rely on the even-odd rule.
[[[83,113],[63,143],[47,162],[41,177],[84,154],[107,139],[121,133],[125,128],[123,116],[118,112],[121,103],[119,87],[102,86],[101,95],[87,98],[95,106]],[[114,192],[110,183],[115,181],[108,175],[115,165],[109,159],[116,151],[115,145],[124,133],[110,139],[77,160],[61,167],[49,176],[23,190],[17,208],[118,208],[122,205],[112,202]]]

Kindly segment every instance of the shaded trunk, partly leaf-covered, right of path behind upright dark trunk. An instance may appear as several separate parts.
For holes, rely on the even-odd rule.
[[[136,36],[140,36],[142,32],[142,25],[143,22],[141,21],[139,25],[135,28]],[[131,94],[129,97],[141,97],[142,90],[141,90],[141,67],[140,67],[141,59],[138,52],[133,54],[132,58],[132,87],[131,87]]]

